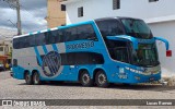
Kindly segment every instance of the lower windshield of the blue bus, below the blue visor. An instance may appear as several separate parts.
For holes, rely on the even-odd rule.
[[[160,64],[155,44],[139,44],[139,49],[132,53],[132,62],[142,66]]]

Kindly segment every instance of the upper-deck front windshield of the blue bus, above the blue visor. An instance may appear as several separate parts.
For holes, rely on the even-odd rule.
[[[149,26],[142,20],[121,19],[126,34],[137,38],[152,38]]]

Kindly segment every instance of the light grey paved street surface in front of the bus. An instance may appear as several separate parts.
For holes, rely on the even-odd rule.
[[[82,87],[78,83],[26,85],[24,81],[12,78],[9,72],[0,72],[0,99],[175,99],[175,87],[113,85],[108,88],[98,88]],[[97,107],[85,108],[96,109]],[[103,108],[105,109],[105,107]],[[149,108],[144,107],[144,109]]]

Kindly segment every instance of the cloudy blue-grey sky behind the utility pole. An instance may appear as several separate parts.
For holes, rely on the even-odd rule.
[[[16,10],[4,1],[0,0],[0,29],[16,32]],[[47,0],[20,0],[20,3],[23,33],[47,28]]]

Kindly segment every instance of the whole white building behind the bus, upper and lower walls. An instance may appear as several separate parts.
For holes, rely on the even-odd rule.
[[[66,4],[67,24],[106,16],[131,16],[144,20],[154,36],[170,41],[173,56],[158,41],[163,75],[175,74],[175,0],[61,0]]]

